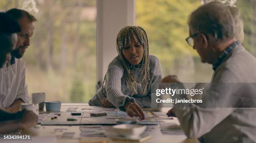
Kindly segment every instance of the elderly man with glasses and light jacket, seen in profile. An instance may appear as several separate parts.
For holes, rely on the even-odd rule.
[[[202,104],[177,103],[174,114],[185,134],[203,137],[205,143],[256,142],[256,58],[234,38],[234,21],[220,2],[210,2],[189,17],[187,43],[196,49],[203,63],[212,64],[214,74],[202,94]],[[166,76],[162,82],[177,82]],[[186,99],[176,95],[174,99]]]

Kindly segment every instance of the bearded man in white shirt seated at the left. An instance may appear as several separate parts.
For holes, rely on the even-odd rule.
[[[30,38],[35,28],[36,18],[25,10],[10,9],[6,14],[18,21],[21,31],[18,32],[18,42],[11,52],[7,65],[0,69],[0,107],[15,113],[20,111],[21,103],[28,103],[28,86],[26,84],[23,54],[30,45]]]

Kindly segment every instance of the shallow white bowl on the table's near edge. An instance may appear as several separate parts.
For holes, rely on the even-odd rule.
[[[120,124],[113,126],[113,130],[121,136],[135,138],[141,135],[146,129],[146,126],[134,124]]]

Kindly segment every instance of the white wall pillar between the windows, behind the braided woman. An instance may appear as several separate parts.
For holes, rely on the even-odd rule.
[[[135,25],[135,20],[135,0],[97,0],[97,81],[102,83],[108,64],[118,55],[115,39],[119,30]]]

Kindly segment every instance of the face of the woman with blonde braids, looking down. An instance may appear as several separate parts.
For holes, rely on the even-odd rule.
[[[135,42],[133,36],[130,36],[131,44],[124,45],[122,49],[123,56],[132,65],[137,65],[141,62],[144,55],[144,47],[140,42]]]

